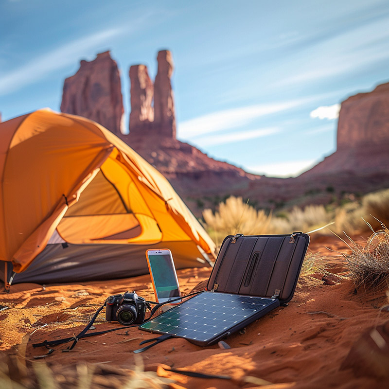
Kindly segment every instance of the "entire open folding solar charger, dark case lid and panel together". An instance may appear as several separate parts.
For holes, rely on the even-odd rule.
[[[183,337],[200,346],[211,345],[292,299],[308,245],[309,235],[302,232],[227,236],[213,266],[207,291],[139,328]],[[221,317],[231,315],[232,307],[237,301],[240,304],[240,299],[246,299],[249,306],[255,301],[258,309],[235,307],[235,312],[240,311],[239,320],[229,320],[225,325]],[[244,304],[238,306],[243,308]],[[204,335],[199,336],[201,329],[208,329],[212,321],[217,323],[213,327],[215,331],[209,334],[208,330],[202,331]]]

